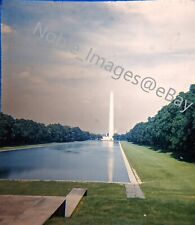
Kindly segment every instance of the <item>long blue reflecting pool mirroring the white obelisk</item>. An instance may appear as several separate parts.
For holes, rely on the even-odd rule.
[[[0,179],[129,182],[119,144],[102,141],[1,152]]]

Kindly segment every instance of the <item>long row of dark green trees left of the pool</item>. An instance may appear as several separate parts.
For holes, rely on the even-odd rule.
[[[100,139],[101,135],[82,131],[79,127],[50,124],[32,120],[14,119],[0,113],[0,146],[70,142]]]

